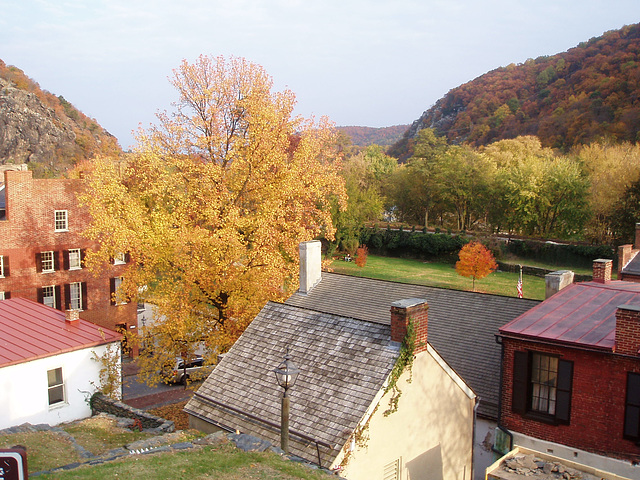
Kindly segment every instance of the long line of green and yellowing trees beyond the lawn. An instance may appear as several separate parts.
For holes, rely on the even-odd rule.
[[[560,154],[534,136],[474,148],[418,133],[399,164],[378,146],[345,159],[348,208],[336,240],[357,246],[366,222],[615,244],[632,240],[640,212],[640,147],[595,142]]]

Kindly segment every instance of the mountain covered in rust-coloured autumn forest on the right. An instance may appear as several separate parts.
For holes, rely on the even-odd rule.
[[[411,156],[417,132],[433,128],[472,146],[536,135],[564,151],[607,139],[640,140],[640,24],[553,56],[488,72],[449,91],[390,149]]]

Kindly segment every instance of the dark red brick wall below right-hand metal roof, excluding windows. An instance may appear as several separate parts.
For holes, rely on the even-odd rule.
[[[623,439],[627,372],[640,373],[640,357],[583,351],[503,338],[501,423],[515,432],[589,452],[640,460],[640,446]],[[515,351],[561,355],[573,362],[571,417],[554,425],[512,412]]]

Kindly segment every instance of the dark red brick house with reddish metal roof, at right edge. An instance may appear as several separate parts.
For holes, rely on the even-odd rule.
[[[611,268],[596,260],[593,281],[500,329],[499,424],[517,444],[640,461],[640,283],[612,281]]]

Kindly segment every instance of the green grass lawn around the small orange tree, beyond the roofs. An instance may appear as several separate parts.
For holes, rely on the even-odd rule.
[[[471,278],[458,275],[453,264],[376,255],[369,255],[363,268],[355,262],[334,260],[331,269],[346,275],[454,290],[472,290],[473,283]],[[476,280],[475,291],[515,297],[517,283],[517,273],[494,272],[482,280]],[[523,275],[522,284],[525,298],[544,300],[544,278]]]

